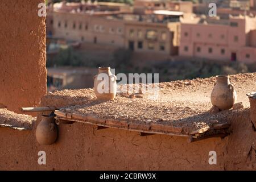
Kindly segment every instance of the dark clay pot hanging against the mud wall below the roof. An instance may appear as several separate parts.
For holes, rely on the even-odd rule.
[[[36,127],[36,140],[39,144],[52,144],[57,139],[57,126],[53,115],[42,115],[42,120]]]

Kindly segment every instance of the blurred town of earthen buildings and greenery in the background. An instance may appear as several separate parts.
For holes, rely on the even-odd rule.
[[[256,70],[256,0],[48,0],[46,27],[49,91],[92,88],[102,66],[160,82]]]

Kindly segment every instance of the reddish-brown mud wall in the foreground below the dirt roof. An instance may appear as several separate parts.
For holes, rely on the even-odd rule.
[[[0,128],[5,146],[0,147],[0,170],[255,170],[256,132],[249,109],[239,111],[230,121],[233,133],[228,137],[193,143],[183,137],[140,137],[133,131],[96,130],[73,123],[59,125],[56,143],[41,146],[35,139],[35,125],[32,131],[4,127]],[[208,163],[212,150],[217,153],[216,165]],[[46,165],[38,164],[39,151],[46,152]]]

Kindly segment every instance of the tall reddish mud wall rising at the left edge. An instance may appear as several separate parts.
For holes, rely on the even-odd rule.
[[[19,112],[46,94],[44,0],[3,1],[0,6],[0,107]]]

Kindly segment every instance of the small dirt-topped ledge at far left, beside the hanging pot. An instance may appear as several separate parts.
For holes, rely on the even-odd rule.
[[[17,130],[32,130],[35,117],[26,114],[16,114],[7,109],[0,109],[0,127],[10,127]]]

